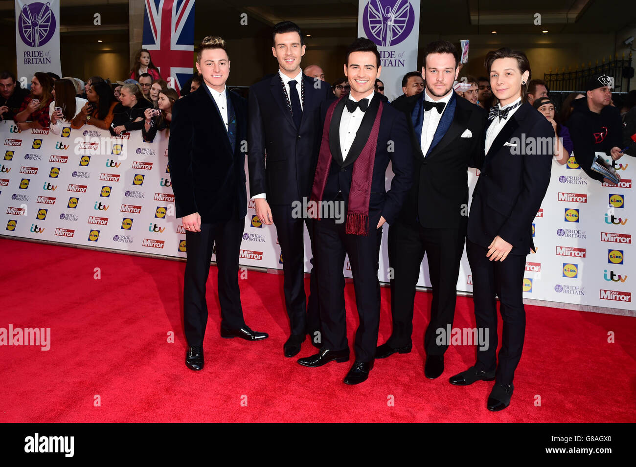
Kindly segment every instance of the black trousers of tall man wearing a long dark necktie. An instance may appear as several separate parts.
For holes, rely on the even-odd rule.
[[[314,339],[313,333],[321,328],[316,273],[317,257],[314,252],[314,220],[292,217],[291,205],[270,205],[270,209],[282,253],[283,290],[291,334],[305,335],[310,332],[312,333],[310,337]],[[305,295],[304,225],[307,225],[312,244],[308,300]]]

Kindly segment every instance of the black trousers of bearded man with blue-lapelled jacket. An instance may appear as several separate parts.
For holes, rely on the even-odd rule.
[[[464,252],[466,224],[457,229],[425,229],[420,224],[395,222],[389,227],[391,316],[393,332],[387,343],[392,348],[412,345],[415,287],[426,254],[432,284],[431,321],[424,334],[426,355],[443,355],[448,345],[436,344],[436,330],[446,332],[453,325],[457,301],[457,278]]]

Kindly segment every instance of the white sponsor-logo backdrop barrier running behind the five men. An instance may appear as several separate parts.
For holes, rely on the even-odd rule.
[[[141,132],[114,138],[94,126],[20,132],[0,123],[0,230],[3,234],[97,248],[186,256],[185,232],[174,217],[165,135],[145,143]],[[629,165],[632,165],[629,167]],[[634,165],[616,163],[623,180],[601,186],[574,158],[553,164],[552,181],[533,224],[537,252],[528,256],[523,285],[529,299],[633,309],[631,222]],[[391,168],[387,174],[391,173]],[[477,179],[469,170],[471,191]],[[389,187],[387,175],[387,188]],[[249,196],[249,187],[248,187]],[[636,224],[635,224],[636,225]],[[380,281],[388,282],[387,227]],[[305,244],[308,236],[305,232]],[[243,266],[282,269],[274,226],[261,224],[249,201],[240,252]],[[306,249],[307,251],[307,249]],[[213,257],[214,260],[214,257]],[[310,263],[305,255],[306,271]],[[349,261],[345,276],[350,277]],[[418,285],[430,286],[426,260]],[[466,255],[457,290],[472,291]]]

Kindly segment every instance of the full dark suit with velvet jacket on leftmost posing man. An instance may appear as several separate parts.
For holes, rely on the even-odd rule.
[[[245,325],[238,273],[247,213],[241,152],[241,142],[247,139],[247,101],[227,88],[225,92],[230,118],[236,121],[235,147],[205,83],[175,102],[170,123],[168,159],[176,216],[195,212],[201,216],[201,231],[186,231],[183,318],[190,346],[203,344],[208,314],[205,282],[215,242],[221,326]]]

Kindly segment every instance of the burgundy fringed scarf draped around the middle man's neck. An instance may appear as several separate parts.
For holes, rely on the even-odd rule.
[[[331,118],[333,112],[338,105],[338,102],[343,98],[349,98],[349,96],[343,96],[340,99],[329,105],[327,111],[327,117],[324,122],[324,128],[322,130],[322,142],[320,146],[320,152],[318,155],[318,164],[316,166],[316,173],[314,177],[314,186],[312,187],[312,198],[317,206],[321,205],[322,194],[324,193],[324,187],[327,184],[327,177],[329,176],[329,168],[331,168],[332,157],[331,149],[329,148],[329,128],[331,126]],[[367,236],[369,233],[369,201],[371,198],[371,179],[373,178],[373,163],[375,162],[375,149],[378,144],[378,133],[380,132],[380,117],[382,117],[383,103],[380,100],[380,107],[378,107],[378,113],[375,116],[373,122],[373,128],[369,139],[366,140],[363,150],[360,155],[354,161],[354,168],[351,178],[351,188],[349,190],[349,209],[347,210],[347,224],[345,226],[345,233],[353,235]],[[347,107],[343,109],[346,111]],[[340,136],[338,136],[339,138]],[[318,216],[320,215],[320,208],[317,210]],[[317,217],[320,219],[320,217]]]

